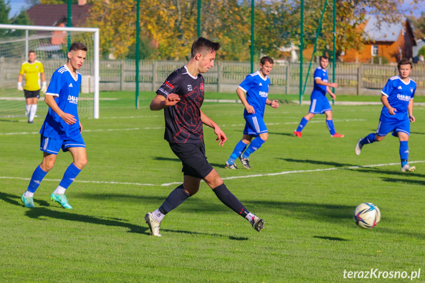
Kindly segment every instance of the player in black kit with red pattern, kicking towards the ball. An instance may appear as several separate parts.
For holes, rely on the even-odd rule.
[[[255,230],[261,232],[264,228],[264,220],[250,213],[226,188],[220,175],[205,157],[203,124],[214,129],[219,145],[223,146],[227,140],[220,127],[200,109],[204,99],[204,78],[201,73],[214,66],[219,49],[218,42],[203,37],[195,40],[192,44],[191,60],[168,76],[151,102],[151,110],[164,109],[164,139],[182,161],[184,175],[183,184],[174,189],[157,210],[145,215],[151,235],[161,237],[160,225],[163,217],[188,197],[196,194],[201,179],[221,202],[248,220]]]

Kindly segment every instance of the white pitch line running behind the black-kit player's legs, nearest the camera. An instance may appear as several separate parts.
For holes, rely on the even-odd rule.
[[[424,163],[425,160],[420,161],[409,161],[409,164],[413,163]],[[400,162],[394,162],[394,163],[381,163],[381,164],[372,164],[372,165],[361,165],[361,166],[350,166],[346,168],[325,168],[325,169],[311,169],[311,170],[295,170],[295,171],[283,171],[278,173],[267,173],[267,174],[256,174],[256,175],[246,175],[246,176],[232,176],[223,178],[223,180],[231,180],[231,179],[241,179],[241,178],[253,178],[253,177],[265,177],[265,176],[276,176],[276,175],[285,175],[285,174],[293,174],[293,173],[306,173],[306,172],[321,172],[321,171],[330,171],[330,170],[346,170],[346,169],[356,169],[356,168],[368,168],[368,167],[381,167],[381,166],[389,166],[389,165],[399,165]],[[20,177],[6,177],[6,176],[0,176],[0,179],[17,179],[17,180],[31,180],[30,178],[20,178]],[[55,181],[60,182],[60,179],[43,179],[43,181]],[[118,184],[118,185],[134,185],[134,186],[171,186],[171,185],[177,185],[181,184],[182,182],[172,182],[172,183],[164,183],[161,185],[155,185],[155,184],[142,184],[142,183],[130,183],[130,182],[106,182],[106,181],[81,181],[81,180],[75,180],[74,182],[77,183],[92,183],[92,184]],[[203,180],[201,180],[203,182]]]

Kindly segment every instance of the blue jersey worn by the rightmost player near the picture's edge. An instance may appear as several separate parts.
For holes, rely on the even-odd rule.
[[[410,100],[415,96],[416,83],[412,79],[409,80],[409,83],[405,83],[399,76],[393,76],[381,91],[381,94],[387,96],[391,107],[397,110],[395,115],[400,118],[405,116],[407,106],[409,106]],[[392,116],[388,113],[388,109],[385,106],[382,108],[381,113],[386,117]]]

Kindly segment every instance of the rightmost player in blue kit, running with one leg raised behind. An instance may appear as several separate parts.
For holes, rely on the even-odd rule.
[[[407,162],[409,159],[410,122],[415,122],[413,97],[416,83],[409,78],[412,66],[412,62],[408,59],[398,62],[398,76],[391,77],[381,91],[381,102],[384,106],[376,133],[370,133],[364,138],[360,138],[355,148],[356,155],[360,155],[364,145],[382,141],[389,132],[392,132],[392,135],[398,137],[400,141],[401,172],[413,172],[416,169]]]

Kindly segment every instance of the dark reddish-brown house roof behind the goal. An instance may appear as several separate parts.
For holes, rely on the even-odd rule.
[[[71,24],[73,27],[84,26],[93,4],[71,5]],[[58,26],[67,22],[67,4],[36,4],[27,10],[35,26]]]

